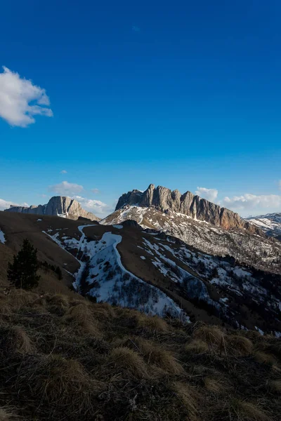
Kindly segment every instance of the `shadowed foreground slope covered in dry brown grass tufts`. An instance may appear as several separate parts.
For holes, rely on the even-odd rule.
[[[280,420],[280,340],[66,295],[0,300],[1,421]]]

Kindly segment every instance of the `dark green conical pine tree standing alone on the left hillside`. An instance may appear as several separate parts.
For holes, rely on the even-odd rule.
[[[13,263],[8,263],[8,281],[15,288],[35,288],[40,278],[38,269],[37,249],[25,239],[18,254],[13,256]]]

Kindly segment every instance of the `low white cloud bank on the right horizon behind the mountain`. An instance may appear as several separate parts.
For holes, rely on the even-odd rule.
[[[242,196],[226,196],[221,202],[221,206],[237,211],[268,210],[276,211],[281,208],[281,196],[277,194],[256,194],[245,193]]]

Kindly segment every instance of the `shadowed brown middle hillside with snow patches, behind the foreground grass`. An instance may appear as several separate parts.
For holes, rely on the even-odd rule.
[[[63,283],[73,282],[92,300],[281,335],[280,275],[202,253],[132,221],[107,226],[0,213],[0,228],[6,238],[0,252],[10,250],[10,260],[27,237],[40,260],[62,268]],[[2,276],[6,266],[2,263]]]

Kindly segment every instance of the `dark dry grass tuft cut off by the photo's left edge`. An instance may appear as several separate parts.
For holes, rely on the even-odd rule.
[[[27,333],[20,326],[0,326],[0,355],[11,356],[16,352],[32,352],[32,344]]]

